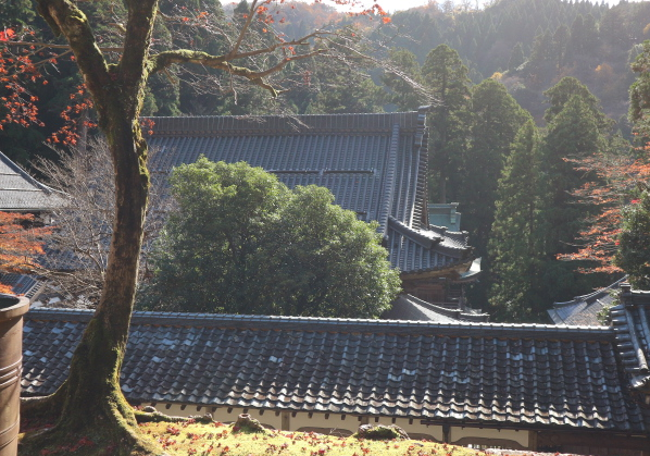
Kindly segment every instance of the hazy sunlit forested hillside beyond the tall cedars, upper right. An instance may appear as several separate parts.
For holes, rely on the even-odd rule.
[[[609,8],[588,1],[501,0],[483,11],[445,14],[429,5],[395,14],[409,30],[396,46],[422,61],[438,44],[454,48],[474,83],[498,73],[509,91],[539,120],[541,93],[574,76],[601,99],[604,112],[625,115],[635,45],[650,38],[650,2]]]

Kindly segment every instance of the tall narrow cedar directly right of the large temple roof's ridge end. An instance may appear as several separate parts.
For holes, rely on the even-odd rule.
[[[458,170],[467,149],[470,85],[467,67],[458,52],[447,45],[433,49],[422,66],[424,83],[436,100],[429,114],[432,170],[437,198],[447,202],[460,188]],[[432,190],[432,189],[429,189]],[[449,192],[448,192],[449,190]]]

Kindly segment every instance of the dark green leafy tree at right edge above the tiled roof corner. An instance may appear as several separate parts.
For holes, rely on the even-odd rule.
[[[646,188],[623,211],[614,263],[637,289],[650,289],[650,192]]]

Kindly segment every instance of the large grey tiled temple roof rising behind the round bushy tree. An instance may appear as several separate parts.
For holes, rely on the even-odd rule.
[[[153,118],[150,169],[165,175],[204,155],[212,161],[246,161],[277,174],[289,187],[321,185],[361,220],[379,222],[402,272],[443,269],[467,257],[466,233],[426,230],[427,108],[382,114],[296,118]],[[390,221],[389,221],[390,220]],[[392,221],[392,222],[391,222]],[[397,221],[398,223],[395,223]],[[399,226],[403,226],[401,229]],[[424,242],[424,244],[422,244]]]

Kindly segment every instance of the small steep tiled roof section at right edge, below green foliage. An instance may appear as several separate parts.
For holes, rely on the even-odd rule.
[[[610,313],[618,355],[632,386],[650,394],[650,292],[632,291],[628,284],[621,292],[621,304]]]

